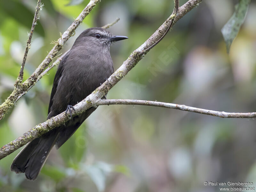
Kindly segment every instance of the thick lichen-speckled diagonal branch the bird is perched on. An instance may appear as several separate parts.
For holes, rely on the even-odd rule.
[[[177,4],[177,0],[176,4]],[[196,4],[191,3],[195,2],[196,0],[189,0],[186,4],[192,9],[196,6]],[[202,0],[197,0],[198,3],[200,3]],[[184,6],[184,5],[183,5]],[[175,12],[175,9],[174,9]],[[177,12],[177,14],[185,15],[181,13],[180,11]],[[175,16],[175,15],[174,15]],[[156,32],[149,37],[149,39],[142,44],[138,49],[134,50],[131,55],[128,57],[127,60],[124,61],[124,63],[119,67],[109,78],[108,81],[105,81],[100,87],[98,87],[95,91],[93,91],[90,95],[88,95],[84,100],[76,104],[75,110],[76,112],[72,114],[72,116],[79,115],[83,113],[86,109],[91,107],[97,107],[95,103],[97,103],[100,98],[102,98],[108,91],[115,85],[117,82],[119,82],[146,54],[141,55],[140,52],[143,52],[145,49],[150,47],[154,44],[154,42],[157,42],[158,39],[160,39],[165,32],[168,30],[170,25],[172,24],[173,13],[172,15],[156,30]],[[154,39],[154,41],[152,41]],[[148,50],[149,51],[149,50]],[[12,142],[4,145],[0,149],[0,159],[4,158],[5,156],[11,154],[13,151],[17,150],[18,148],[22,147],[23,145],[27,144],[28,142],[34,140],[35,138],[39,137],[40,135],[44,134],[45,132],[48,132],[55,127],[64,124],[67,122],[70,118],[69,115],[65,115],[65,112],[62,112],[61,114],[52,117],[51,119],[48,119],[42,124],[36,125],[34,128],[29,130],[27,133],[24,133],[21,137],[19,137],[16,140],[13,140]]]

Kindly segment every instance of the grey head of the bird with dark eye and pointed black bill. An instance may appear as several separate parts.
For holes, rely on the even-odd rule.
[[[74,46],[85,45],[85,46],[101,46],[110,48],[113,42],[128,39],[126,36],[115,36],[108,30],[93,27],[84,30],[76,39]]]

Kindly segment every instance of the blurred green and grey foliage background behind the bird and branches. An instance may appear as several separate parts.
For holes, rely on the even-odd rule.
[[[35,70],[89,0],[42,0],[24,78]],[[185,0],[180,0],[180,5]],[[226,112],[256,110],[256,2],[227,54],[221,28],[238,0],[204,0],[189,12],[108,99],[157,100]],[[77,5],[76,5],[77,4]],[[36,0],[0,0],[0,102],[13,90]],[[120,21],[109,30],[129,39],[111,55],[117,69],[170,16],[169,0],[105,0],[97,4],[60,52],[86,28]],[[53,68],[0,122],[0,144],[47,117]],[[222,119],[148,106],[100,106],[59,149],[37,180],[10,172],[19,151],[0,161],[0,191],[220,191],[205,181],[256,184],[256,121]]]

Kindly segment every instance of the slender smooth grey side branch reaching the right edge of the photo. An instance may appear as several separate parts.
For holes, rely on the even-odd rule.
[[[252,113],[228,113],[224,111],[213,111],[208,109],[201,109],[196,107],[189,107],[186,105],[178,105],[173,103],[164,103],[158,101],[146,101],[146,100],[130,100],[130,99],[107,99],[99,100],[95,103],[96,106],[99,105],[146,105],[154,107],[164,107],[171,109],[178,109],[182,111],[189,111],[194,113],[200,113],[204,115],[211,115],[222,118],[253,118],[256,117],[256,112]]]

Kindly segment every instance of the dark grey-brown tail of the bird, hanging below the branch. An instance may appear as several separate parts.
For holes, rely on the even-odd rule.
[[[58,135],[58,132],[48,132],[28,143],[13,160],[11,171],[25,173],[28,180],[35,180]]]

